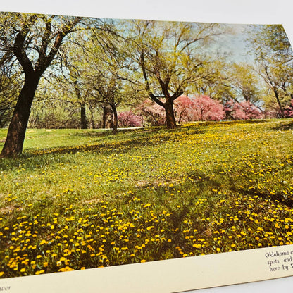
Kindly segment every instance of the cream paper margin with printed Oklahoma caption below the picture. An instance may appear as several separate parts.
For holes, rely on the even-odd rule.
[[[288,256],[270,256],[285,251]],[[8,278],[0,280],[0,287],[11,286],[9,292],[22,293],[182,292],[286,277],[292,275],[292,268],[283,270],[282,266],[284,259],[290,257],[293,258],[293,245]],[[275,259],[280,262],[268,264]],[[277,266],[280,270],[270,271],[270,267]]]

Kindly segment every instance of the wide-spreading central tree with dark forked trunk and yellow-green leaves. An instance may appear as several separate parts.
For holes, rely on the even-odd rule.
[[[133,20],[127,27],[132,82],[164,108],[166,127],[175,128],[173,104],[188,87],[204,79],[205,44],[223,32],[220,25]]]

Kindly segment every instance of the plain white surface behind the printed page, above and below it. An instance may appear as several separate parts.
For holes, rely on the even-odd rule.
[[[281,23],[293,44],[292,0],[0,0],[0,11],[211,23]],[[291,293],[293,277],[192,292]]]

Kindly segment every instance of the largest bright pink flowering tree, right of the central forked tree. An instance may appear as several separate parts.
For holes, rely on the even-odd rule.
[[[209,96],[197,96],[192,98],[194,109],[194,120],[198,121],[219,121],[225,118],[223,104],[220,101],[213,100]]]

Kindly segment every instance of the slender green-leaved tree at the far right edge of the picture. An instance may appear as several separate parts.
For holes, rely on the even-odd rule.
[[[254,25],[249,43],[258,64],[258,74],[266,83],[284,118],[284,106],[292,99],[293,51],[282,25]]]

